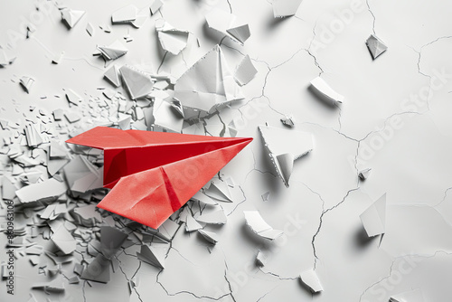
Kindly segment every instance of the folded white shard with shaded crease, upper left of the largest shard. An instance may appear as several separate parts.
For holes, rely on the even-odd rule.
[[[176,29],[163,19],[155,22],[155,30],[158,41],[165,51],[177,55],[187,46],[189,32]]]

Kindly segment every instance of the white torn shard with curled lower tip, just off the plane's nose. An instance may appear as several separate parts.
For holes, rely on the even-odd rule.
[[[294,161],[314,149],[314,140],[310,133],[277,127],[259,126],[270,161],[279,177],[288,186]]]

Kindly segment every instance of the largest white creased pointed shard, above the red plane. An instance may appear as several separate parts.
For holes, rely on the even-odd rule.
[[[174,98],[179,99],[184,108],[212,112],[244,96],[220,46],[216,45],[177,80]]]

